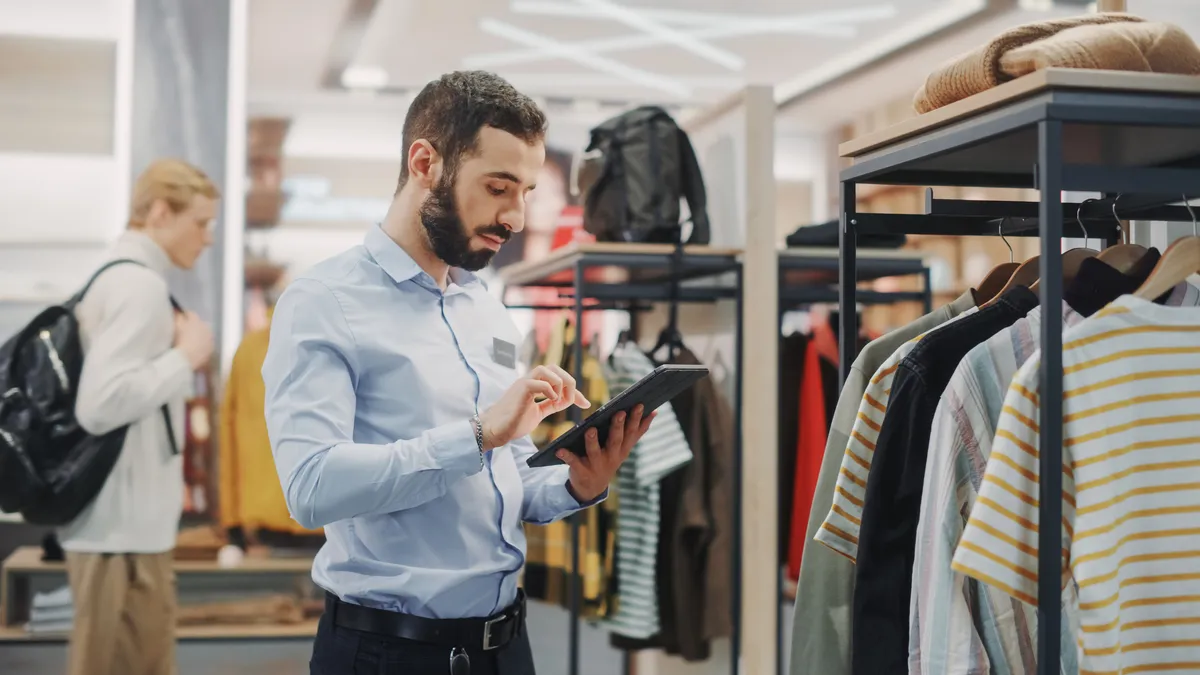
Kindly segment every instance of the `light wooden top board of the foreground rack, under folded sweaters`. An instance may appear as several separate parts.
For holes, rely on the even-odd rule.
[[[1006,82],[974,96],[955,101],[887,129],[847,141],[838,147],[842,157],[860,157],[874,150],[948,126],[959,120],[1001,108],[1051,89],[1098,91],[1129,91],[1153,94],[1200,94],[1200,77],[1184,74],[1139,73],[1126,71],[1093,71],[1080,68],[1046,68]]]

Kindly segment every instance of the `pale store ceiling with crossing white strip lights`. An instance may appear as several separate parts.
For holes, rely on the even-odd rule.
[[[870,106],[914,90],[932,64],[998,30],[1088,11],[1057,1],[253,0],[248,94],[252,112],[403,109],[438,74],[484,68],[590,123],[640,102],[694,109],[746,84],[775,86],[792,108],[797,92],[808,98],[815,83],[853,80],[856,64],[874,62],[870,85],[840,97]],[[1195,35],[1198,1],[1128,6]],[[1003,11],[984,17],[984,6]],[[936,49],[902,49],[948,24],[965,25]],[[889,43],[901,48],[895,58]],[[828,126],[838,106],[816,100],[816,126]],[[802,109],[785,119],[814,110]]]

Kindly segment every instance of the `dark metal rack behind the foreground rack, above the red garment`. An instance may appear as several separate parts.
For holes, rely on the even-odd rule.
[[[913,251],[869,250],[858,259],[858,281],[874,281],[887,276],[913,276],[922,279],[920,291],[868,291],[856,288],[854,301],[862,305],[890,305],[917,301],[922,304],[923,313],[932,311],[934,289],[930,282],[930,269],[923,256]],[[841,267],[839,251],[816,247],[788,247],[779,252],[779,316],[806,305],[838,303],[840,289],[838,271]],[[840,307],[845,312],[845,307]],[[853,333],[858,334],[857,311],[851,309]],[[842,315],[845,316],[845,315]],[[844,324],[845,325],[845,324]],[[845,327],[839,327],[845,330]],[[785,540],[775,542],[776,560],[782,555]],[[779,601],[782,602],[784,574],[776,574]],[[799,602],[799,598],[797,598]],[[784,631],[775,631],[775,670],[784,671]]]

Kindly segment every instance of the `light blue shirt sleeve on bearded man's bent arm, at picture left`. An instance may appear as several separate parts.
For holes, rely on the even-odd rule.
[[[271,321],[264,412],[288,509],[305,527],[413,508],[481,470],[468,419],[415,438],[355,443],[358,376],[354,335],[334,292],[311,279],[292,283]]]

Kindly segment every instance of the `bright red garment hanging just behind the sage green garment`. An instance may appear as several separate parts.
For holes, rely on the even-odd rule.
[[[804,555],[804,534],[809,527],[809,510],[817,489],[821,460],[824,456],[826,401],[821,382],[821,356],[815,340],[804,351],[804,377],[800,380],[799,434],[796,443],[796,488],[792,491],[792,532],[787,543],[787,578],[796,581],[800,577],[800,557]]]

